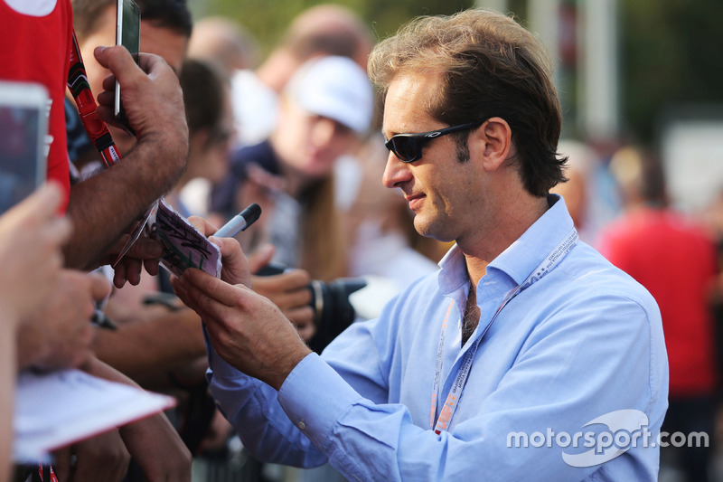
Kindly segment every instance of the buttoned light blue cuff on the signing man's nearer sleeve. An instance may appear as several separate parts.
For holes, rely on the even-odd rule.
[[[278,391],[278,402],[291,422],[324,451],[336,421],[360,400],[362,396],[315,353],[296,365]]]

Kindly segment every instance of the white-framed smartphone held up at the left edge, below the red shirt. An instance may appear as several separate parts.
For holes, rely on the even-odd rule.
[[[45,181],[50,105],[41,84],[0,80],[0,213]]]

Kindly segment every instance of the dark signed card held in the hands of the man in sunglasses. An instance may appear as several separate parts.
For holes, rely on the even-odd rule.
[[[149,237],[164,245],[161,266],[181,276],[188,268],[198,268],[221,276],[221,251],[163,199],[149,220]]]

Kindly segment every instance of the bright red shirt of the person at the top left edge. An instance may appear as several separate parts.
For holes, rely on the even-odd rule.
[[[63,211],[70,194],[63,99],[72,28],[70,0],[0,0],[0,79],[41,83],[50,94],[48,179],[65,190]]]

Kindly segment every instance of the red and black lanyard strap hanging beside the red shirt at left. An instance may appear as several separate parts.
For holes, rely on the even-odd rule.
[[[93,92],[90,91],[90,85],[88,83],[88,74],[85,71],[85,65],[83,65],[83,58],[80,55],[80,48],[78,48],[78,39],[75,37],[73,32],[73,39],[70,44],[70,71],[68,71],[68,88],[73,94],[73,99],[78,105],[78,111],[80,112],[80,120],[83,122],[83,127],[88,133],[88,137],[96,146],[100,156],[103,159],[103,164],[106,167],[116,164],[120,160],[120,153],[116,148],[116,144],[113,142],[113,137],[110,136],[108,126],[103,122],[96,113],[98,104],[93,99]]]

